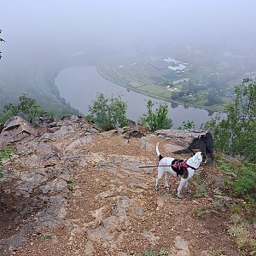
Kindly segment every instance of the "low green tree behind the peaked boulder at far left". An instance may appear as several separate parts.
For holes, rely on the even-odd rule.
[[[38,106],[38,102],[35,99],[29,98],[26,94],[19,96],[19,104],[6,104],[3,107],[3,115],[0,118],[0,122],[4,122],[7,119],[19,115],[21,118],[26,119],[30,123],[34,121],[40,115],[51,115],[44,111],[44,109]]]

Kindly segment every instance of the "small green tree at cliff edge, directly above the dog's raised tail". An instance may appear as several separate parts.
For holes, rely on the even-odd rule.
[[[168,116],[168,106],[166,103],[160,103],[159,108],[153,110],[154,102],[148,100],[148,113],[143,114],[139,119],[139,123],[147,126],[150,131],[157,131],[160,129],[170,129],[172,127],[172,119]]]

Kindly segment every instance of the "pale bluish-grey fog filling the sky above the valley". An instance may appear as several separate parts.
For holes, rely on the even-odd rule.
[[[192,45],[212,58],[218,49],[246,56],[256,71],[253,0],[1,0],[0,9],[0,89],[6,76],[37,73],[81,49],[93,66],[143,47],[164,55],[173,44]]]

